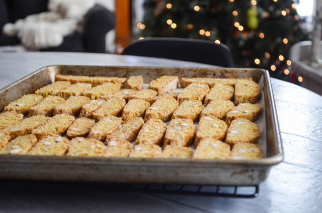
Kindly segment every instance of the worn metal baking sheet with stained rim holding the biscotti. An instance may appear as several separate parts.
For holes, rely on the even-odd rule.
[[[145,83],[162,75],[178,75],[179,78],[252,77],[262,88],[259,103],[263,110],[256,123],[262,129],[259,145],[264,150],[265,158],[236,161],[0,155],[1,179],[255,185],[263,182],[270,168],[283,160],[274,97],[266,70],[53,65],[41,68],[1,89],[0,112],[9,102],[53,82],[55,74],[117,77],[142,75]]]

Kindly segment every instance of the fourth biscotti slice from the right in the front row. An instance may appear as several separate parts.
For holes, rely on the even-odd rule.
[[[130,152],[129,157],[132,158],[161,158],[161,147],[155,144],[139,144],[135,145]]]

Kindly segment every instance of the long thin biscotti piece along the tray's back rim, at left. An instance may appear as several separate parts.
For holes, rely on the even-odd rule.
[[[99,84],[103,84],[106,82],[112,83],[121,83],[124,84],[126,78],[119,78],[119,77],[104,77],[104,76],[86,76],[86,75],[55,75],[55,80],[61,81],[69,81],[71,83],[90,83],[92,86],[97,86]]]

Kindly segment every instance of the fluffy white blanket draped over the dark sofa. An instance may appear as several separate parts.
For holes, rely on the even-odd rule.
[[[64,36],[82,31],[83,17],[94,5],[95,0],[49,0],[48,12],[8,23],[3,31],[29,50],[57,47]]]

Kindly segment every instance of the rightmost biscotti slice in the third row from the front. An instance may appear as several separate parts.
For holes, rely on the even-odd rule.
[[[261,105],[257,103],[239,103],[227,113],[225,121],[227,125],[230,125],[234,119],[255,121],[259,117],[261,110]]]

